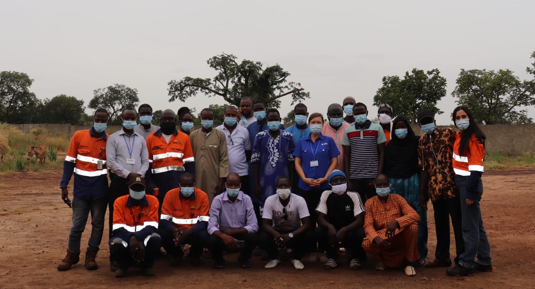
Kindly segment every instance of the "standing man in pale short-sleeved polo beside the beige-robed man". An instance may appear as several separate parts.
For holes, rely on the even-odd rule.
[[[241,191],[249,195],[249,169],[251,140],[246,127],[238,125],[238,111],[232,105],[225,108],[225,121],[216,127],[225,134],[228,151],[229,171],[240,176]]]

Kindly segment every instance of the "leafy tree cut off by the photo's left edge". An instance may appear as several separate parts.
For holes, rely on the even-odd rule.
[[[29,91],[33,79],[28,77],[24,72],[2,71],[0,72],[0,110],[2,117],[0,120],[7,123],[21,123],[13,119],[13,114],[25,119],[31,118],[24,116],[28,109],[34,108],[39,104],[35,94]]]

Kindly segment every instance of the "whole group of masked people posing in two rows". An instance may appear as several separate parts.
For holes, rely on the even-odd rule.
[[[309,115],[302,103],[294,114],[295,125],[285,129],[277,109],[243,97],[239,108],[225,108],[215,128],[213,111],[203,109],[202,128],[192,131],[188,108],[179,109],[178,118],[163,111],[156,126],[152,108],[142,104],[137,113],[125,109],[123,129],[109,135],[108,113],[97,109],[93,127],[74,133],[64,162],[60,187],[67,200],[74,174],[73,216],[67,255],[57,269],[79,262],[89,214],[85,267],[98,268],[108,207],[116,277],[131,266],[153,276],[164,253],[178,266],[185,245],[191,265],[201,265],[204,251],[214,268],[224,267],[224,252],[240,252],[243,268],[256,252],[268,261],[265,268],[274,268],[279,254],[290,250],[295,269],[304,268],[307,254],[309,262],[335,269],[345,252],[353,270],[368,254],[377,270],[401,267],[408,276],[424,265],[447,267],[449,276],[492,271],[479,207],[485,134],[468,108],[453,112],[460,132],[436,127],[430,110],[419,112],[422,136],[406,117],[392,119],[388,104],[379,106],[379,123],[372,123],[366,105],[350,96],[328,106],[327,121],[322,113]],[[437,246],[426,263],[430,199]]]

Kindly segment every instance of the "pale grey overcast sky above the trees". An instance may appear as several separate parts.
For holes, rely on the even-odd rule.
[[[527,79],[535,51],[535,1],[7,1],[0,0],[0,71],[25,72],[39,98],[87,104],[93,90],[121,83],[154,110],[223,104],[197,95],[169,103],[167,82],[212,78],[206,60],[225,52],[280,64],[326,112],[351,95],[368,104],[385,75],[438,68],[448,81],[445,111],[460,69],[511,69]],[[292,109],[282,101],[281,113]],[[88,110],[89,112],[89,110]],[[535,118],[535,108],[529,108]]]

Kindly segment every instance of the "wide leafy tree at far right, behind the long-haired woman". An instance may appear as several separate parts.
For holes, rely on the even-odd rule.
[[[531,54],[535,58],[535,52]],[[533,68],[526,71],[535,77]],[[526,110],[535,105],[535,79],[521,81],[513,71],[461,70],[453,96],[457,104],[468,107],[479,124],[526,124],[533,123]]]

